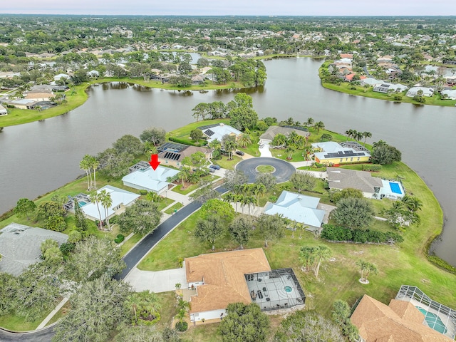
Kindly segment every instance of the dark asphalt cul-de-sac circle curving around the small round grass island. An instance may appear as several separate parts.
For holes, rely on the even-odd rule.
[[[296,169],[293,165],[285,160],[280,160],[277,158],[270,158],[270,157],[259,157],[259,158],[252,158],[248,160],[242,160],[236,165],[236,170],[240,170],[244,172],[247,176],[249,176],[249,183],[254,183],[257,180],[257,176],[259,172],[255,170],[259,165],[271,165],[276,170],[272,172],[277,179],[278,183],[286,182],[291,178],[291,176],[296,172]]]

